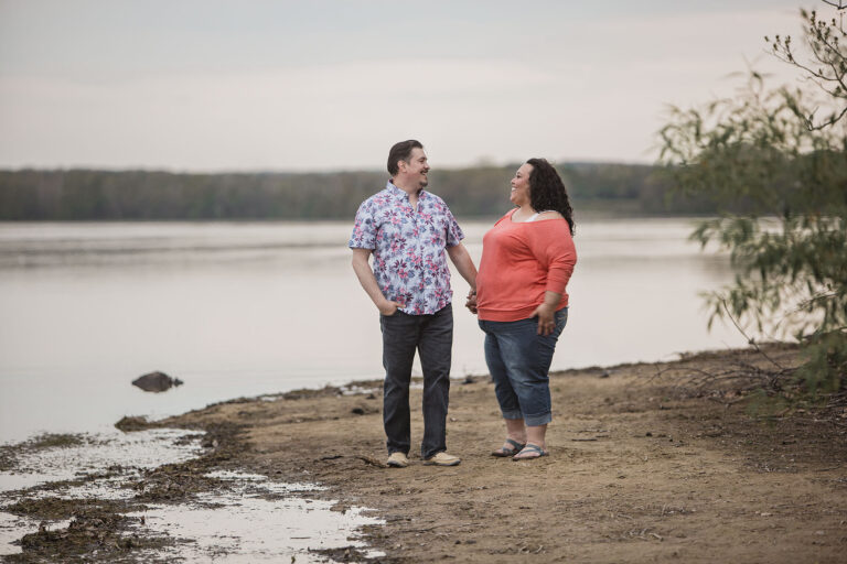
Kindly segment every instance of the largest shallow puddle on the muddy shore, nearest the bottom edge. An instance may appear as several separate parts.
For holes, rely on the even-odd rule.
[[[277,484],[264,476],[214,473],[208,476],[232,480],[233,489],[197,497],[180,506],[150,506],[149,511],[130,513],[144,517],[139,534],[168,534],[178,546],[157,553],[159,557],[187,561],[240,562],[326,562],[309,550],[343,546],[365,547],[355,530],[385,521],[368,517],[364,508],[332,511],[334,501],[276,498],[279,494],[314,490],[304,484]],[[213,505],[214,509],[203,507]],[[180,542],[183,541],[183,542]],[[384,555],[372,551],[368,557]]]

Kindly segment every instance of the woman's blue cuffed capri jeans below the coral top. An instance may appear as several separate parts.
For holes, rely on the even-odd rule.
[[[549,369],[556,341],[568,322],[568,308],[555,314],[556,328],[538,335],[538,318],[516,322],[480,321],[485,332],[485,362],[504,419],[546,425],[550,413]]]

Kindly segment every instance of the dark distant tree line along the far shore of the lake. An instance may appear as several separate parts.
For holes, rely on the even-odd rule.
[[[432,171],[430,186],[458,216],[508,207],[518,163]],[[650,165],[559,166],[575,208],[642,215],[709,214],[706,198],[680,196]],[[0,171],[0,219],[340,219],[385,185],[384,172],[176,174],[157,171]]]

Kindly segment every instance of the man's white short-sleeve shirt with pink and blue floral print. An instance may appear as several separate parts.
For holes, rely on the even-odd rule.
[[[444,200],[421,191],[416,212],[389,181],[358,207],[347,246],[374,251],[374,275],[387,300],[405,304],[404,313],[429,315],[452,300],[444,250],[462,239]]]

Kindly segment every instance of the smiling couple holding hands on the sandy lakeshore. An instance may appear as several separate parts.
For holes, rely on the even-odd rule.
[[[409,464],[416,350],[424,372],[424,464],[461,462],[447,453],[446,444],[453,340],[446,254],[470,284],[465,305],[485,332],[485,361],[506,427],[505,442],[491,454],[514,460],[547,456],[548,370],[567,323],[566,288],[577,262],[572,209],[561,177],[544,159],[521,165],[510,195],[515,207],[485,234],[478,272],[447,204],[424,189],[429,173],[424,145],[396,143],[388,153],[388,173],[385,189],[360,206],[349,242],[353,270],[379,310],[387,464]]]

